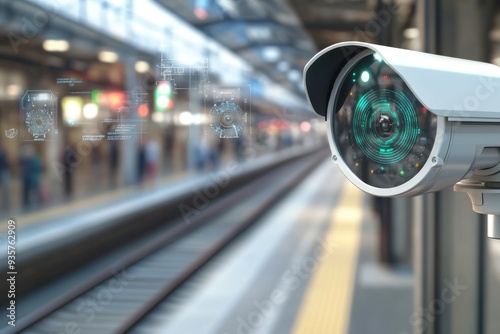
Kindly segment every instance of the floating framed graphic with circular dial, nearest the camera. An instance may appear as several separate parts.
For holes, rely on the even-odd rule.
[[[217,87],[213,89],[210,128],[219,138],[239,138],[251,113],[251,88]]]

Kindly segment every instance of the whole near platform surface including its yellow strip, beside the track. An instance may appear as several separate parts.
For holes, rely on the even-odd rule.
[[[322,163],[134,333],[411,333],[413,277],[378,261],[368,202]]]

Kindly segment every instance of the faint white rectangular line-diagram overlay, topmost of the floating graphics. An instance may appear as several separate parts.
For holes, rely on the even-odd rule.
[[[203,93],[210,85],[208,58],[169,59],[162,54],[158,67],[163,82],[170,83],[174,94],[193,88]]]

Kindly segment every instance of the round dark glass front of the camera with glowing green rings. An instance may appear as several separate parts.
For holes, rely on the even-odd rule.
[[[379,188],[413,178],[434,145],[436,116],[373,54],[351,65],[339,92],[333,133],[351,171]]]

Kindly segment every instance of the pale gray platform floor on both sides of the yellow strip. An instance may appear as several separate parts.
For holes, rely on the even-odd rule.
[[[344,185],[344,177],[330,162],[320,165],[214,258],[189,289],[160,305],[137,332],[291,333],[314,272],[301,267],[318,247],[328,247],[324,236]],[[369,200],[364,203],[368,206]],[[377,262],[377,222],[368,207],[364,212],[349,333],[412,333],[411,271]],[[329,310],[324,311],[329,316]]]

